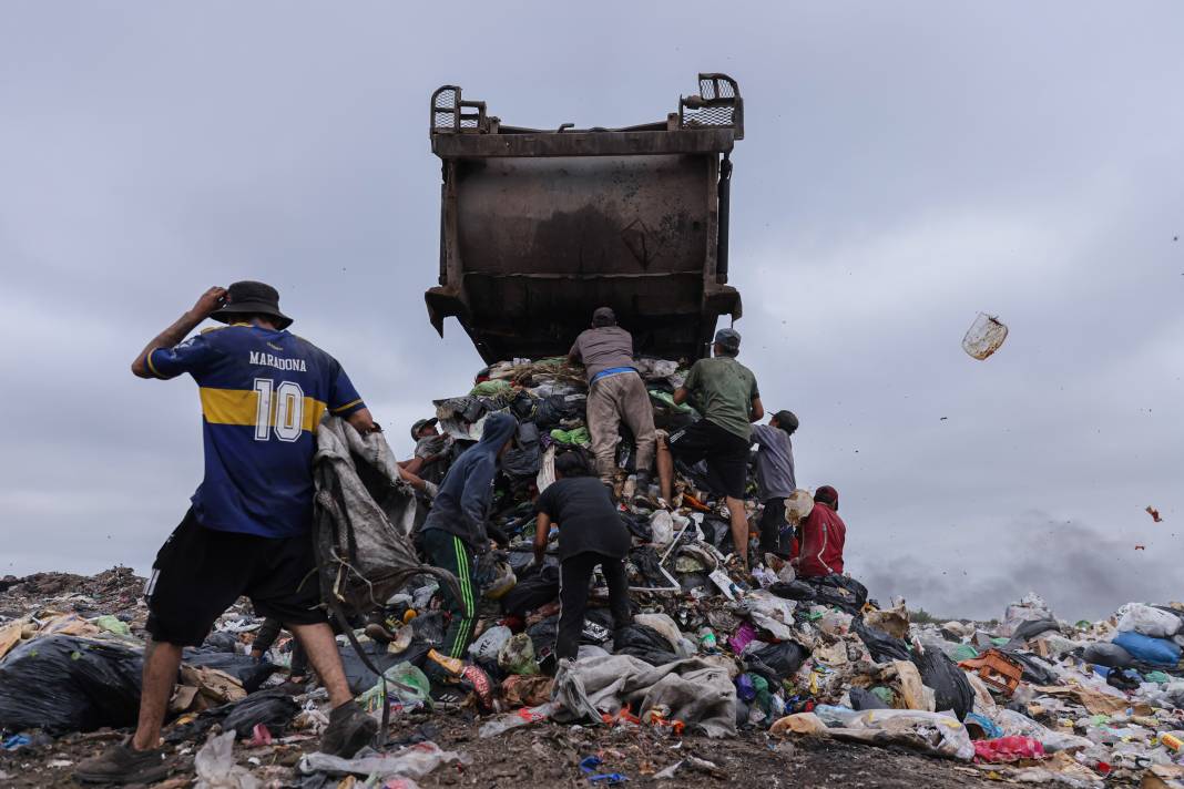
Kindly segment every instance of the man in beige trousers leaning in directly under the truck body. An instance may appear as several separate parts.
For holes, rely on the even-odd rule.
[[[587,422],[600,481],[612,485],[617,470],[617,431],[624,421],[637,441],[637,487],[650,485],[654,466],[654,406],[633,367],[633,337],[617,325],[612,309],[592,313],[592,328],[580,332],[567,355],[587,370]]]

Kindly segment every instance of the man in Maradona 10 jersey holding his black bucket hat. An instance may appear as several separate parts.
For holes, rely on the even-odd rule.
[[[230,325],[185,339],[207,317]],[[211,287],[131,364],[141,379],[188,373],[198,383],[205,479],[156,555],[144,591],[152,638],[136,732],[79,764],[81,781],[165,777],[169,767],[157,745],[181,648],[199,646],[242,595],[291,630],[328,690],[323,752],[353,756],[378,729],[354,704],[320,590],[305,578],[316,568],[313,454],[321,415],[342,416],[360,433],[379,428],[341,364],[289,334],[289,324],[270,285]]]

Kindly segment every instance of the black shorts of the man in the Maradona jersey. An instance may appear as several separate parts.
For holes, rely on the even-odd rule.
[[[258,537],[206,529],[193,510],[156,554],[144,589],[154,641],[199,646],[214,620],[246,595],[257,616],[284,625],[328,619],[321,603],[313,536]]]

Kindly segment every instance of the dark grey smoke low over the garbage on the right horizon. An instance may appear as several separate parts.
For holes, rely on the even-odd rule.
[[[1132,600],[1166,603],[1180,597],[1179,555],[1154,544],[1137,548],[1140,543],[1122,532],[1050,524],[1044,513],[1032,512],[983,537],[982,550],[960,560],[922,563],[887,555],[850,571],[881,603],[902,596],[910,609],[951,619],[1003,619],[999,601],[1016,601],[1028,591],[1069,621],[1108,616]],[[1165,531],[1164,537],[1176,535]]]

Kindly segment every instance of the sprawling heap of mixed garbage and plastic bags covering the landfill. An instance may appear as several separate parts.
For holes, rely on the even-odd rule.
[[[659,429],[695,419],[671,397],[686,369],[638,367]],[[613,636],[597,576],[579,658],[556,661],[558,564],[532,562],[533,499],[554,481],[558,452],[587,451],[586,394],[565,360],[519,360],[436,401],[437,473],[489,414],[520,426],[490,512],[498,547],[475,573],[483,594],[466,659],[436,651],[448,622],[427,576],[347,623],[368,660],[339,638],[356,698],[391,717],[381,742],[350,759],[317,754],[326,692],[315,677],[289,681],[290,638],[247,654],[263,622],[240,601],[186,651],[166,784],[723,785],[813,769],[818,783],[804,785],[848,775],[861,785],[1184,787],[1180,603],[1066,622],[1030,594],[1000,622],[914,622],[903,601],[881,604],[848,575],[800,578],[754,545],[742,568],[700,471],[677,466],[661,500],[637,485],[629,435],[614,497],[632,535],[633,622]],[[747,510],[757,523],[759,504]],[[0,581],[0,782],[39,785],[45,770],[64,781],[134,724],[146,608],[129,571],[103,576]]]

